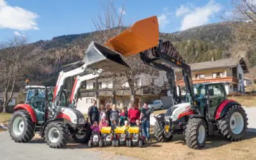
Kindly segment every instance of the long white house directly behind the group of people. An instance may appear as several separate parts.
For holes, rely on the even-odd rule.
[[[156,81],[158,85],[163,85],[164,79],[162,79],[161,76],[157,76],[159,79]],[[140,88],[140,86],[147,86],[149,81],[147,74],[140,74],[136,78],[136,86]],[[162,81],[163,80],[163,81]],[[98,86],[99,86],[99,102],[100,104],[108,104],[112,103],[113,99],[115,99],[115,104],[122,108],[123,106],[129,106],[130,102],[130,90],[129,90],[129,84],[125,82],[122,84],[122,89],[117,90],[115,93],[113,93],[113,81],[112,79],[99,79],[98,80]],[[96,99],[96,81],[95,79],[92,79],[90,81],[86,81],[82,83],[81,90],[80,90],[80,97],[77,101],[77,109],[82,111],[83,113],[87,113],[88,108],[92,106],[92,101]],[[146,88],[141,88],[136,91],[136,104],[143,103],[143,102],[149,102],[150,100],[156,100],[161,99],[164,103],[165,107],[170,107],[170,99],[168,99],[166,95],[166,91],[159,92],[159,93],[153,93],[151,90],[148,91]]]

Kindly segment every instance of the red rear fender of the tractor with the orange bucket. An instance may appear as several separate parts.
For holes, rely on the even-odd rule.
[[[235,100],[223,100],[216,109],[215,120],[218,120],[225,116],[225,113],[228,111],[228,108],[234,105],[241,106],[241,104],[237,103]]]

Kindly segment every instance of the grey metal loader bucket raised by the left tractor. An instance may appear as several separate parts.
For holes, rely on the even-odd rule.
[[[124,72],[130,68],[118,53],[96,42],[91,42],[89,45],[84,63],[109,72]]]

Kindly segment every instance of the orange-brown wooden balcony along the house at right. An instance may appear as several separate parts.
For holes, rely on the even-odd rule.
[[[238,83],[238,79],[236,77],[219,77],[219,78],[205,78],[205,79],[193,79],[193,84],[198,83],[218,83],[218,82],[229,82],[229,83]],[[179,86],[185,86],[183,80],[176,81],[176,84]]]

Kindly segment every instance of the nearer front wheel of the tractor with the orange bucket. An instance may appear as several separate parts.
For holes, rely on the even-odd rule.
[[[202,135],[202,136],[200,136]],[[202,148],[207,138],[207,125],[202,118],[190,118],[185,129],[185,140],[189,148]]]

